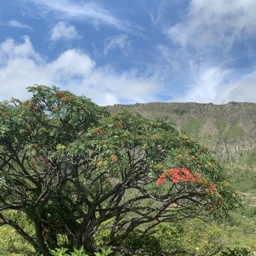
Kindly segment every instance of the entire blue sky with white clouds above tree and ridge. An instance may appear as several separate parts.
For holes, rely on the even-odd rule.
[[[1,0],[0,100],[256,102],[255,0]]]

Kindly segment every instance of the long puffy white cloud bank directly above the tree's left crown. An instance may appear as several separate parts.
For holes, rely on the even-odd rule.
[[[83,51],[69,49],[47,62],[33,49],[28,37],[18,44],[12,39],[0,45],[0,100],[26,99],[26,87],[56,85],[84,94],[100,105],[119,102],[156,101],[157,77],[129,70],[116,74],[112,67],[97,67]]]

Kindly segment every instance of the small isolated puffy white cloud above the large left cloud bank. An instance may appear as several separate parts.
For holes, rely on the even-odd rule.
[[[69,25],[68,22],[60,21],[56,23],[51,29],[51,40],[74,40],[79,39],[81,36],[78,35],[75,26]]]

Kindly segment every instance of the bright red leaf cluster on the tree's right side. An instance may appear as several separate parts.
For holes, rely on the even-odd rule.
[[[164,172],[158,179],[156,186],[161,186],[164,184],[166,178],[171,178],[173,183],[179,181],[182,182],[200,182],[207,183],[206,180],[201,178],[200,173],[191,173],[187,168],[170,168],[170,170]],[[214,194],[216,187],[214,184],[208,184],[207,190],[210,194]]]

